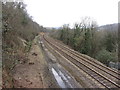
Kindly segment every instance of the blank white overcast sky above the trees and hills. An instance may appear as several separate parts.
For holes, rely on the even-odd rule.
[[[98,25],[118,22],[120,0],[24,0],[27,11],[44,27],[73,26],[82,17],[94,18]]]

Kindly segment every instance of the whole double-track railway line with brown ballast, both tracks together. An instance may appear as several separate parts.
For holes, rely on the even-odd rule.
[[[116,83],[117,80],[120,80],[119,73],[117,71],[109,69],[108,67],[102,65],[101,63],[97,63],[94,60],[85,58],[74,50],[63,46],[44,35],[43,40],[104,87],[120,88],[120,85]]]

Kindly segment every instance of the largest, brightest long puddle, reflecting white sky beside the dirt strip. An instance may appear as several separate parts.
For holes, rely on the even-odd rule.
[[[53,72],[53,75],[54,75],[55,79],[57,80],[57,83],[59,84],[59,86],[61,88],[66,88],[64,81],[62,80],[61,76],[59,76],[59,74],[57,73],[57,71],[54,68],[52,68],[52,72]]]

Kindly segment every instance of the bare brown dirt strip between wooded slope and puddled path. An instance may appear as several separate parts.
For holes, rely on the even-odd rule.
[[[49,68],[43,52],[34,40],[28,55],[29,61],[18,64],[13,74],[15,88],[49,88],[58,87]]]

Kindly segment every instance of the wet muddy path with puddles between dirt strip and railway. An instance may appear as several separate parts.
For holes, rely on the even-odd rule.
[[[54,76],[60,88],[82,88],[74,77],[58,62],[58,59],[47,49],[41,38],[38,39],[39,46],[42,47],[45,59],[47,60],[49,71]]]

